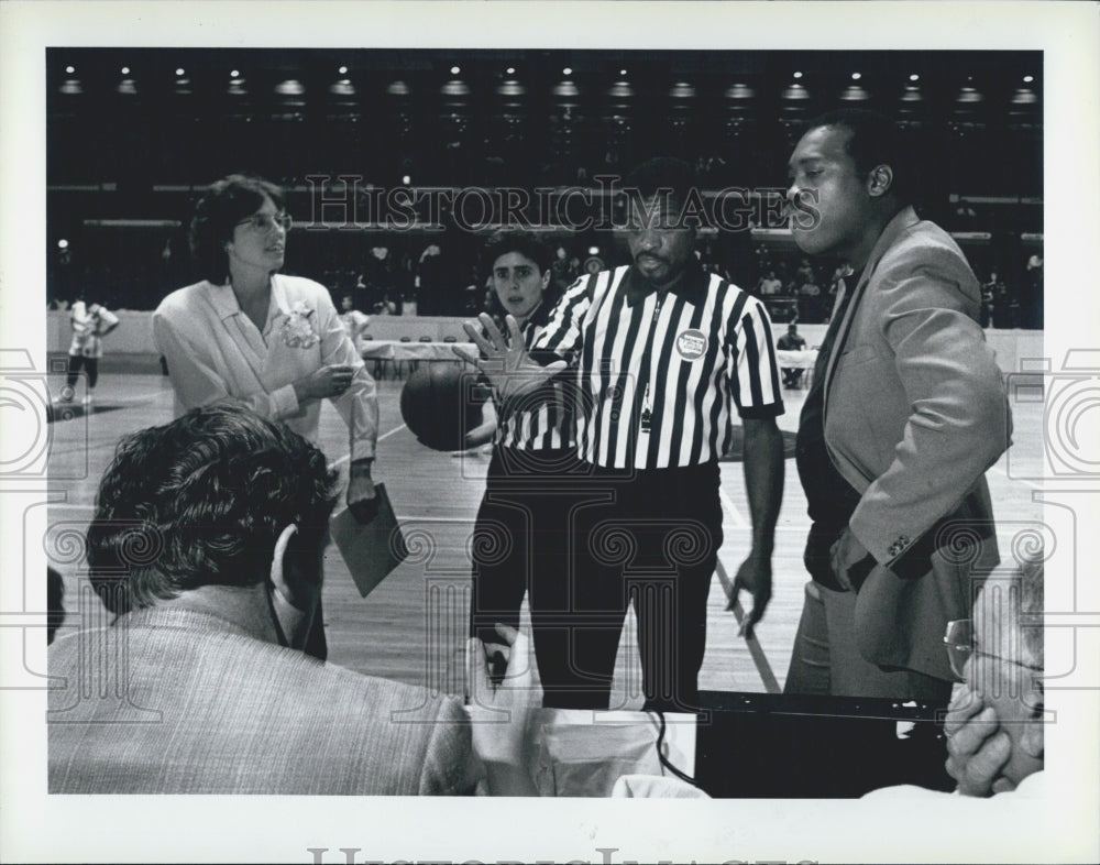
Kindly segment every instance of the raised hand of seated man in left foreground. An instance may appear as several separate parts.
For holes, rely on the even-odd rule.
[[[538,796],[525,764],[534,692],[531,656],[526,635],[498,624],[499,644],[466,640],[470,714],[474,752],[485,765],[491,796]],[[493,681],[490,654],[507,659],[504,678]]]

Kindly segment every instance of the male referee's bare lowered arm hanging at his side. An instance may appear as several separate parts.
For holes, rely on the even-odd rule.
[[[741,589],[752,595],[739,635],[752,636],[771,600],[771,554],[776,521],[783,501],[783,437],[776,418],[741,418],[745,428],[745,489],[752,517],[752,547],[737,569],[730,605]]]

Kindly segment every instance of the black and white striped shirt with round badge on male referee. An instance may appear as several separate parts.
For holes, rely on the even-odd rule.
[[[663,469],[717,459],[744,418],[783,413],[768,313],[757,298],[689,264],[654,292],[629,265],[582,276],[531,343],[575,357],[581,459]]]

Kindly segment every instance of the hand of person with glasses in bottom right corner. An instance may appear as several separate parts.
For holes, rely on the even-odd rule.
[[[1001,776],[1009,762],[1012,743],[1001,729],[993,707],[966,685],[956,689],[947,716],[947,774],[958,782],[964,796],[992,796],[1014,790],[1015,785]]]

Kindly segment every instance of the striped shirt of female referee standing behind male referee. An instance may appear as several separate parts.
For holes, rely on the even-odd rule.
[[[524,344],[528,350],[546,330],[549,317],[550,307],[543,305],[524,322]],[[572,449],[575,406],[568,394],[573,390],[572,382],[554,381],[509,402],[507,412],[497,413],[496,446],[517,450]]]

